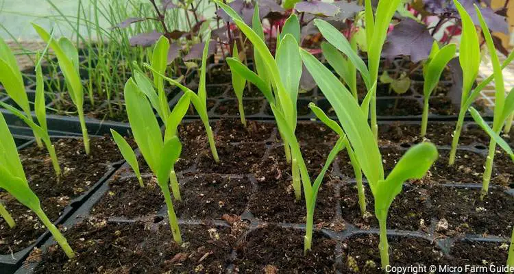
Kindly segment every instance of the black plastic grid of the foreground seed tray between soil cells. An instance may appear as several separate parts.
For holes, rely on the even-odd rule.
[[[413,123],[413,122],[409,122]],[[308,123],[302,123],[302,124],[308,124]],[[311,123],[312,124],[312,123]],[[390,122],[381,123],[382,126],[384,125],[390,125]],[[413,123],[415,124],[415,123]],[[270,125],[272,125],[270,123]],[[466,127],[471,127],[472,123],[467,123]],[[219,127],[215,127],[215,132],[219,132]],[[279,151],[281,148],[280,142],[277,141],[278,135],[276,132],[276,129],[273,129],[271,134],[268,138],[262,138],[260,141],[256,142],[227,142],[224,145],[229,146],[238,146],[238,145],[259,145],[260,147],[265,148],[265,152],[262,155],[262,160],[260,162],[264,162],[268,155],[272,153],[274,149],[278,149]],[[459,151],[469,151],[472,153],[478,153],[480,155],[486,155],[487,150],[478,148],[478,142],[471,143],[469,145],[462,146]],[[221,145],[223,146],[223,145]],[[221,147],[220,146],[220,147]],[[381,149],[388,149],[390,147],[395,147],[396,149],[400,151],[406,151],[408,147],[410,147],[409,144],[402,144],[400,146],[397,145],[389,145],[381,147]],[[438,147],[439,151],[448,151],[448,146]],[[223,161],[223,156],[220,154],[220,158]],[[341,158],[341,155],[339,156]],[[247,199],[247,203],[245,206],[244,211],[240,214],[241,219],[246,221],[246,227],[245,232],[238,236],[237,240],[234,241],[234,246],[232,251],[226,254],[227,264],[225,265],[225,270],[228,273],[235,273],[236,263],[238,256],[241,254],[238,254],[237,250],[235,249],[236,245],[239,245],[243,240],[247,240],[248,237],[252,235],[252,232],[256,231],[257,229],[262,229],[262,227],[265,227],[266,225],[273,225],[276,227],[282,227],[284,229],[292,229],[292,231],[297,231],[297,233],[303,233],[305,226],[304,223],[301,222],[281,222],[281,221],[269,221],[266,217],[263,216],[257,216],[255,212],[252,211],[252,201],[255,201],[255,199],[260,199],[260,196],[262,193],[266,193],[266,191],[263,191],[261,189],[260,184],[262,184],[261,179],[259,177],[256,177],[254,173],[247,173],[246,171],[243,171],[241,173],[232,172],[233,170],[230,170],[226,173],[217,173],[216,170],[213,171],[206,171],[206,167],[202,166],[200,167],[198,163],[201,162],[201,155],[197,156],[197,159],[193,162],[194,164],[189,166],[188,168],[178,172],[178,179],[181,184],[182,190],[186,190],[188,188],[188,184],[193,179],[198,178],[206,178],[209,175],[212,175],[214,172],[217,175],[219,175],[221,178],[234,180],[234,179],[245,179],[249,183],[250,187],[245,188],[244,190],[241,190],[241,193],[249,192],[249,198]],[[358,238],[360,236],[367,236],[367,235],[378,235],[378,227],[374,227],[374,225],[371,225],[368,228],[358,227],[355,223],[352,223],[350,221],[350,217],[343,212],[343,208],[341,205],[341,202],[344,201],[344,197],[342,197],[342,188],[344,187],[352,187],[355,184],[355,179],[352,177],[348,177],[344,175],[341,171],[341,162],[339,160],[336,160],[334,164],[332,165],[332,168],[329,171],[328,176],[326,177],[325,184],[329,184],[330,187],[327,186],[327,188],[324,188],[321,190],[320,193],[323,191],[330,191],[326,196],[332,197],[333,201],[323,201],[319,198],[317,205],[320,208],[332,208],[333,207],[333,216],[330,217],[330,219],[326,220],[326,222],[317,223],[315,225],[320,225],[318,227],[319,233],[321,233],[323,236],[322,238],[331,239],[336,241],[336,247],[334,249],[334,260],[333,264],[334,267],[337,269],[337,273],[345,273],[343,271],[344,267],[346,266],[347,262],[347,254],[345,253],[345,247],[349,243],[352,242],[355,238]],[[345,168],[348,168],[347,165],[345,165]],[[230,168],[229,168],[230,169]],[[315,174],[313,174],[315,175]],[[143,174],[143,177],[151,177],[151,174]],[[108,181],[104,182],[99,186],[98,190],[91,195],[90,199],[86,201],[86,203],[83,203],[82,206],[66,221],[64,221],[63,225],[67,229],[73,229],[73,225],[79,223],[80,221],[84,221],[88,219],[90,216],[94,216],[95,212],[91,212],[91,209],[95,207],[95,205],[101,201],[105,195],[108,194],[110,191],[110,185],[109,182],[112,182],[112,180],[122,180],[123,182],[128,181],[129,179],[134,178],[134,174],[131,171],[130,166],[127,164],[123,165],[121,169],[119,169],[119,172],[116,175],[113,175]],[[207,182],[206,182],[207,183]],[[127,182],[128,184],[128,182]],[[323,185],[324,186],[324,185]],[[442,188],[443,190],[451,190],[451,189],[463,189],[463,190],[469,190],[469,191],[476,191],[479,192],[481,185],[480,184],[459,184],[458,182],[454,182],[452,184],[439,184],[438,187]],[[410,192],[411,190],[415,190],[420,193],[424,193],[424,190],[428,190],[432,188],[430,185],[417,185],[415,182],[412,182],[410,184],[406,184],[404,187],[404,192]],[[513,190],[504,190],[504,188],[498,188],[498,187],[492,187],[491,191],[495,192],[504,192],[508,197],[511,197],[514,195]],[[402,193],[404,193],[402,192]],[[212,193],[211,193],[212,194]],[[208,194],[209,195],[209,194]],[[292,193],[291,193],[292,195]],[[321,195],[321,194],[320,194]],[[352,195],[356,196],[356,191],[353,192]],[[423,196],[423,195],[421,195]],[[184,196],[183,196],[184,197]],[[430,210],[430,206],[432,203],[432,199],[430,197],[422,197],[421,200],[422,207],[421,210]],[[286,199],[286,197],[281,197],[280,199]],[[397,200],[402,199],[401,195],[400,197],[397,197]],[[216,201],[212,201],[216,202]],[[164,202],[162,202],[164,203]],[[417,206],[416,206],[417,207]],[[372,209],[372,204],[368,202],[368,208],[369,210]],[[318,210],[318,209],[317,209]],[[321,210],[321,209],[320,209]],[[391,215],[394,216],[395,209],[394,205],[393,208],[391,208],[390,211],[390,219]],[[181,212],[177,212],[180,216]],[[371,217],[374,218],[374,217]],[[317,222],[317,217],[315,215],[315,221]],[[388,238],[391,242],[395,242],[396,239],[412,239],[412,240],[419,240],[421,242],[424,242],[425,245],[432,247],[433,250],[437,250],[442,254],[442,258],[440,261],[440,264],[452,262],[452,244],[455,242],[463,242],[463,241],[472,241],[475,242],[476,245],[481,245],[482,243],[495,243],[498,245],[504,244],[508,241],[509,236],[503,235],[503,236],[493,236],[489,234],[488,236],[482,236],[481,234],[458,234],[454,236],[442,236],[441,234],[437,233],[437,225],[439,225],[439,221],[437,218],[432,217],[431,219],[426,220],[427,222],[430,221],[429,225],[426,225],[423,229],[401,229],[401,228],[391,228],[388,230]],[[166,208],[163,206],[161,210],[159,210],[156,214],[151,214],[147,216],[141,216],[139,218],[126,218],[125,216],[112,216],[108,219],[108,223],[121,223],[125,225],[131,225],[135,222],[145,222],[147,223],[147,226],[155,226],[155,225],[167,225],[167,213]],[[228,223],[223,221],[219,216],[217,218],[182,218],[179,221],[180,225],[183,227],[185,225],[205,225],[206,223],[210,223],[211,225],[215,225],[217,227],[230,227]],[[321,228],[320,228],[321,227]],[[318,232],[315,232],[315,234]],[[319,235],[319,234],[318,234]],[[171,240],[171,235],[169,236]],[[86,239],[87,240],[87,239]],[[49,245],[53,245],[53,240],[49,239],[47,242],[45,242],[45,245],[43,245],[42,249],[43,252],[45,252],[45,248],[49,247]],[[314,240],[313,246],[319,244],[319,240]],[[378,246],[374,246],[374,249],[378,249]],[[417,256],[417,255],[416,255]],[[395,259],[391,256],[391,262],[395,264]],[[413,260],[411,263],[418,263],[419,260]],[[19,271],[16,271],[16,273],[32,273],[34,267],[36,266],[35,263],[27,264],[23,266]]]

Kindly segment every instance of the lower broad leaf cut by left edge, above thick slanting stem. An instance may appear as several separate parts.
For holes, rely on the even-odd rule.
[[[14,177],[25,178],[25,172],[18,156],[16,143],[3,114],[0,112],[0,166],[4,166]],[[1,178],[1,177],[0,177]],[[0,180],[1,184],[1,180]]]

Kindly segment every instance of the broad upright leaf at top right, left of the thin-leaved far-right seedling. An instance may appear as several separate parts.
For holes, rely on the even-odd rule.
[[[469,90],[472,89],[476,75],[478,75],[480,42],[478,41],[475,24],[471,16],[457,0],[454,0],[454,4],[458,13],[461,14],[462,21],[461,47],[458,50],[458,61],[463,69],[463,98],[466,98]]]

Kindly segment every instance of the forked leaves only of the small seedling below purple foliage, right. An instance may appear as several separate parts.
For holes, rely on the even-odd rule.
[[[430,58],[425,64],[423,73],[425,79],[423,93],[425,97],[430,97],[432,91],[436,88],[446,64],[453,59],[456,50],[455,44],[446,45],[442,49],[439,49],[437,42],[434,42],[432,53],[430,53]]]

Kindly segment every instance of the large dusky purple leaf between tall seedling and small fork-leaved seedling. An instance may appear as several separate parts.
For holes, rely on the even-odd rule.
[[[419,62],[428,58],[434,38],[425,25],[406,18],[387,36],[382,56],[393,59],[397,55],[411,56],[412,62]]]

